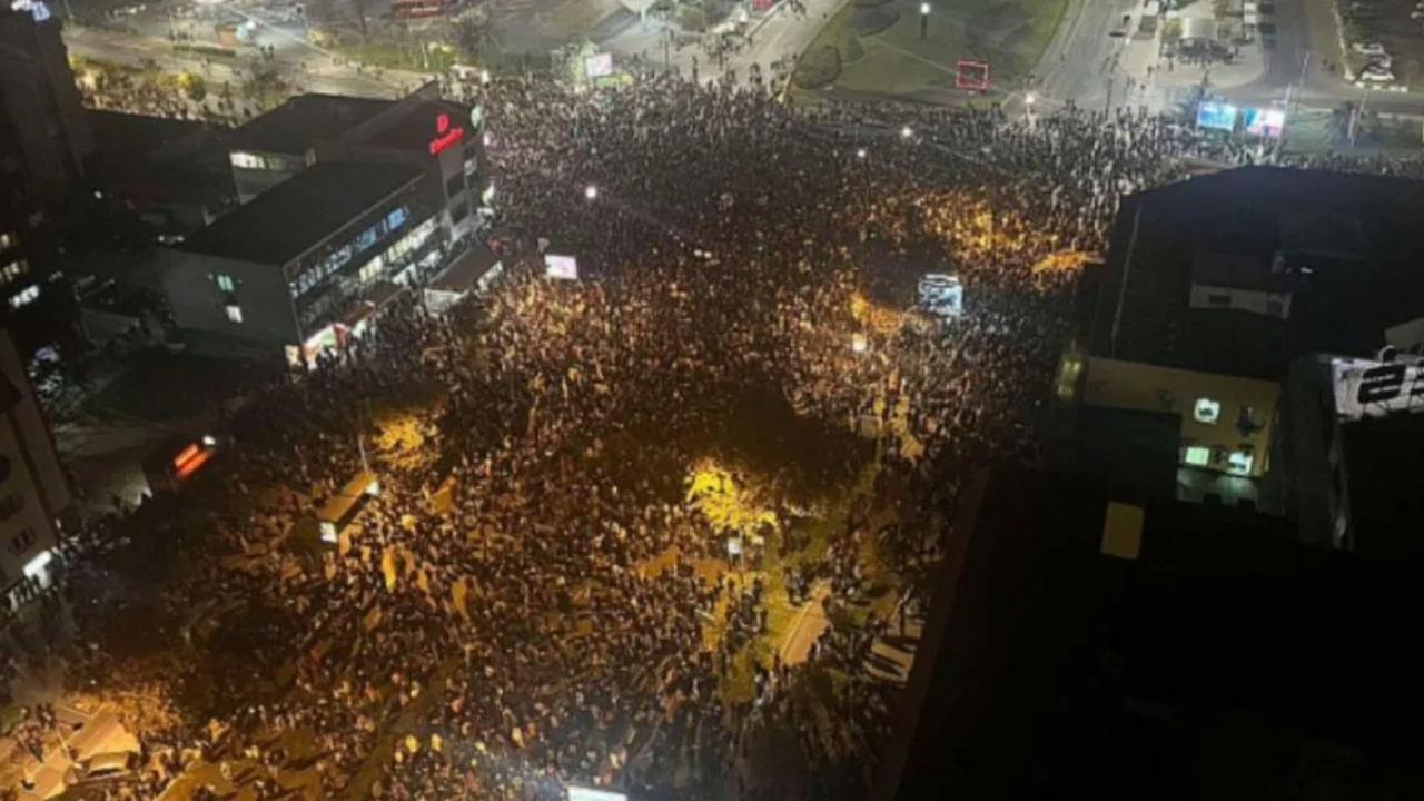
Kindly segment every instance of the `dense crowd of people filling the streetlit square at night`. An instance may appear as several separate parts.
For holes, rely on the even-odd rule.
[[[1101,252],[1118,198],[1179,180],[1195,135],[803,113],[666,76],[451,93],[486,111],[500,282],[443,315],[397,301],[255,392],[228,480],[77,560],[85,637],[157,610],[182,654],[179,720],[145,734],[184,757],[112,792],[192,770],[195,797],[259,801],[862,794],[899,687],[870,666],[927,609],[961,480],[1035,458],[1074,278],[1035,265]],[[906,312],[924,274],[963,308]],[[709,459],[768,524],[686,503]],[[379,495],[322,543],[312,510],[367,460]],[[805,604],[830,624],[795,644],[775,610]],[[138,668],[90,647],[70,670]]]

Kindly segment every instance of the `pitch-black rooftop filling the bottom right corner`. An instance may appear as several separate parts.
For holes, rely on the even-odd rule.
[[[1094,482],[970,487],[873,801],[1420,797],[1418,566],[1142,510],[1118,559]]]

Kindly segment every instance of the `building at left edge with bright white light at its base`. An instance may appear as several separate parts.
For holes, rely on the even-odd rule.
[[[0,613],[50,586],[58,522],[71,502],[34,389],[0,331]]]

